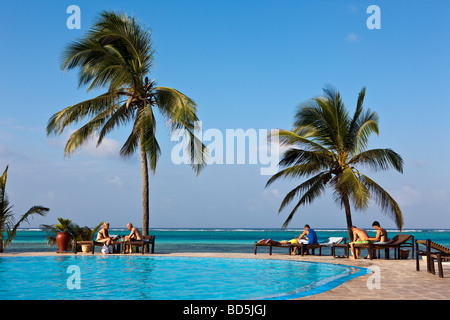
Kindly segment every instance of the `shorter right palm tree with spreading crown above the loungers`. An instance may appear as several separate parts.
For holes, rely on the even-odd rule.
[[[338,91],[323,89],[325,95],[299,106],[292,131],[279,130],[281,146],[288,149],[280,160],[281,171],[273,175],[266,187],[279,178],[308,178],[290,191],[279,212],[294,198],[299,200],[286,219],[286,228],[301,205],[311,203],[325,191],[333,189],[334,199],[345,208],[349,239],[352,239],[350,203],[366,209],[373,198],[384,213],[402,230],[403,215],[397,202],[386,190],[363,174],[358,167],[374,170],[394,168],[403,172],[403,160],[391,149],[367,150],[368,138],[378,135],[378,115],[363,108],[366,89],[358,96],[351,117]]]

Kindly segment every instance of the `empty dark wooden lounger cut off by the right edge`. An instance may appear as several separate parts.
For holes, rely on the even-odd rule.
[[[425,246],[425,250],[419,250],[419,245]],[[435,251],[432,251],[435,250]],[[416,240],[416,270],[419,271],[419,256],[427,257],[427,271],[436,274],[434,269],[434,260],[438,264],[439,278],[444,277],[444,270],[442,268],[442,262],[450,260],[450,249],[436,242],[427,240]]]

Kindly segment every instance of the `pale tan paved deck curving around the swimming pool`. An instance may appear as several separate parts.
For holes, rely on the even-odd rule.
[[[63,255],[71,255],[65,253]],[[52,252],[2,253],[0,257],[13,256],[60,256]],[[78,255],[87,255],[78,253]],[[89,254],[90,255],[90,254]],[[102,255],[96,253],[96,255]],[[139,255],[140,254],[133,254]],[[299,300],[448,300],[450,299],[450,264],[443,264],[444,278],[426,271],[426,263],[420,260],[420,271],[416,271],[415,260],[366,260],[334,258],[332,256],[289,256],[287,254],[259,253],[207,253],[178,252],[146,256],[214,257],[243,259],[277,259],[293,261],[324,262],[367,268],[375,273],[362,273],[356,278],[339,284],[325,292],[298,298]],[[437,269],[436,269],[437,270]]]

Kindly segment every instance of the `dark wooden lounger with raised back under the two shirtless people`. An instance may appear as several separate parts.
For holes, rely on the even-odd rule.
[[[411,240],[411,243],[408,243]],[[353,244],[354,248],[367,249],[368,256],[370,259],[373,259],[372,252],[374,250],[378,250],[377,257],[380,258],[380,250],[384,249],[384,258],[389,259],[389,249],[394,249],[395,258],[400,258],[400,250],[404,250],[405,248],[411,248],[412,257],[414,257],[414,237],[409,234],[397,234],[391,240],[386,243],[374,243],[369,241],[368,243],[355,243]]]

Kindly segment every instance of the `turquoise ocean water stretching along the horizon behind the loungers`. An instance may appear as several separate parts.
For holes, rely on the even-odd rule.
[[[346,229],[315,229],[318,241],[326,241],[329,237],[346,237]],[[366,229],[369,236],[375,236],[375,231]],[[392,238],[398,230],[389,230]],[[150,229],[155,235],[155,253],[170,252],[234,252],[253,253],[254,243],[260,239],[289,240],[298,237],[303,229]],[[111,235],[127,235],[127,229],[111,228]],[[411,234],[415,239],[431,239],[434,242],[450,247],[450,230],[448,229],[405,229],[403,234]],[[4,235],[5,236],[5,235]],[[266,250],[265,250],[266,249]],[[15,240],[5,252],[56,252],[56,246],[49,247],[46,243],[46,234],[40,229],[21,229],[17,232]],[[100,248],[97,248],[100,250]],[[330,249],[324,248],[322,254],[329,254]],[[268,252],[267,248],[258,248],[258,252]],[[286,249],[274,248],[274,253],[285,253]]]

